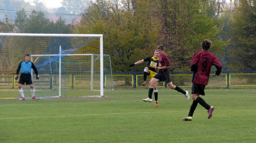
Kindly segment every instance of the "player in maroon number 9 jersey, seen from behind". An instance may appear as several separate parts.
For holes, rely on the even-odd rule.
[[[203,40],[201,43],[202,51],[196,52],[190,62],[191,71],[194,71],[191,91],[192,99],[194,101],[190,107],[188,116],[182,118],[183,121],[192,121],[192,116],[198,103],[202,105],[206,110],[208,110],[208,118],[211,117],[212,111],[215,109],[214,106],[208,105],[201,97],[199,97],[199,95],[205,95],[204,88],[208,84],[211,66],[215,65],[217,68],[215,72],[216,76],[221,74],[222,63],[214,54],[208,51],[210,46],[210,40]]]

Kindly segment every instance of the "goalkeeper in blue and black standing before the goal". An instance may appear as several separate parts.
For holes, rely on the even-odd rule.
[[[31,77],[31,68],[33,68],[33,70],[35,71],[36,74],[36,79],[39,79],[38,76],[38,71],[34,65],[33,62],[29,61],[30,56],[29,54],[25,55],[25,60],[20,62],[16,71],[16,77],[15,80],[18,80],[18,73],[19,70],[22,70],[22,74],[20,75],[19,81],[18,81],[18,89],[19,89],[19,93],[21,94],[22,98],[20,98],[20,100],[25,100],[24,97],[24,93],[23,93],[23,89],[22,89],[22,85],[26,83],[26,85],[30,85],[31,88],[31,93],[32,93],[32,99],[37,99],[35,97],[35,89],[34,89],[34,85],[32,82],[32,77]]]

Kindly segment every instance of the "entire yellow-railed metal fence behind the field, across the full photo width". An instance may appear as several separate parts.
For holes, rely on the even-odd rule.
[[[148,88],[147,85],[142,86],[143,73],[112,73],[114,89],[143,89]],[[0,89],[16,89],[18,81],[15,81],[15,74],[1,74],[0,75]],[[172,72],[170,78],[174,85],[180,87],[191,87],[191,79],[193,77],[192,72]],[[112,83],[111,75],[104,74],[104,86]],[[66,83],[72,88],[79,87],[80,82],[78,80],[67,80]],[[69,83],[70,82],[70,83]],[[79,82],[79,83],[76,83]],[[216,76],[214,73],[210,74],[207,87],[215,88],[244,88],[252,87],[256,88],[256,71],[223,71],[220,76]],[[158,82],[158,89],[167,88],[165,82]]]

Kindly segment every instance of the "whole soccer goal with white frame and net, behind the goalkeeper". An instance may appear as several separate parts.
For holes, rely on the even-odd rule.
[[[111,59],[103,55],[100,34],[0,33],[0,44],[2,75],[14,74],[30,54],[40,76],[32,76],[37,97],[104,96],[104,90],[113,90]],[[25,98],[31,97],[29,85],[23,89]]]

